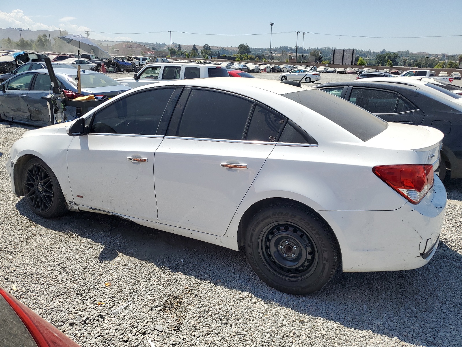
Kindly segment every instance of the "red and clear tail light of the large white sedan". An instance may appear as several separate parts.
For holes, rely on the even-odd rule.
[[[412,204],[419,204],[433,186],[431,164],[383,165],[372,172]]]

